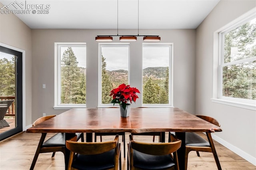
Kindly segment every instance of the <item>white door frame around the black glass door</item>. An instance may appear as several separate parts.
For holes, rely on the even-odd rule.
[[[25,50],[19,49],[4,43],[0,42],[0,46],[19,51],[22,53],[22,131],[25,131],[27,128],[26,127],[26,69],[25,69],[25,60],[26,60],[26,55],[25,55]]]

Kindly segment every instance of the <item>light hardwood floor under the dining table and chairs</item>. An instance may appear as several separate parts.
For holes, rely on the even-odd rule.
[[[48,134],[48,137],[51,134]],[[126,133],[126,141],[128,141]],[[200,133],[204,136],[204,134]],[[41,134],[22,132],[0,142],[0,169],[1,170],[28,170],[34,158]],[[166,135],[167,137],[167,135]],[[94,137],[93,137],[94,138]],[[112,140],[114,136],[103,136],[103,140]],[[120,140],[120,139],[119,139]],[[152,142],[152,136],[134,136],[134,140]],[[120,140],[122,142],[122,140]],[[214,141],[222,170],[256,170],[256,166],[247,162],[234,152]],[[121,144],[121,146],[123,146]],[[123,149],[123,148],[122,148]],[[123,152],[122,152],[123,154]],[[61,152],[51,158],[52,153],[39,154],[35,170],[63,170],[64,156]],[[212,153],[190,152],[188,170],[217,170]],[[126,161],[122,155],[122,170],[126,170]]]

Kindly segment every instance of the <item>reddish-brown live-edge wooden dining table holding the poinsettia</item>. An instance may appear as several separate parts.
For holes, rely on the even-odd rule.
[[[129,117],[121,117],[116,108],[70,109],[26,130],[32,133],[64,132],[66,140],[76,132],[84,132],[87,142],[92,142],[93,132],[162,132],[162,141],[165,132],[175,132],[182,140],[178,150],[180,170],[185,169],[185,132],[220,131],[220,127],[178,108],[132,108]],[[66,168],[69,154],[66,149]]]

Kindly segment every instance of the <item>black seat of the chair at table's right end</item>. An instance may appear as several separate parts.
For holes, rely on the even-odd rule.
[[[186,146],[208,146],[210,143],[194,132],[186,132]]]

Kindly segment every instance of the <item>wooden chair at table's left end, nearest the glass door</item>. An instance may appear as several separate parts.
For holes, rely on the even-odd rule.
[[[45,117],[40,117],[36,121],[34,121],[32,126],[36,126],[56,115],[50,115]],[[32,164],[30,166],[30,170],[33,170],[36,165],[36,160],[40,153],[48,153],[53,152],[52,157],[54,157],[55,152],[62,152],[65,157],[65,133],[57,133],[54,136],[50,137],[48,140],[44,141],[47,133],[42,133],[40,141],[38,143],[35,156],[33,158]],[[77,139],[81,138],[81,141],[84,142],[84,133],[76,133],[78,136]]]

